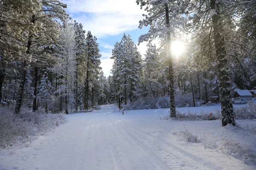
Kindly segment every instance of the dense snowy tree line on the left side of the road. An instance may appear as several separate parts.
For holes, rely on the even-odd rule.
[[[46,112],[89,109],[101,91],[99,45],[56,0],[0,5],[0,99]]]

